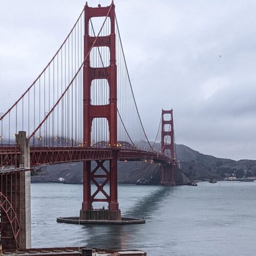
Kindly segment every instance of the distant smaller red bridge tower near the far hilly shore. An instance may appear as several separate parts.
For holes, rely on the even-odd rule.
[[[169,115],[169,119],[165,118]],[[174,157],[174,120],[173,110],[162,110],[162,132],[161,132],[161,151]],[[162,185],[175,185],[175,165],[172,163],[162,164]]]

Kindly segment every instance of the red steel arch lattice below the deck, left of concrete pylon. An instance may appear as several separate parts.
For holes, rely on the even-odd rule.
[[[0,232],[4,249],[19,248],[20,171],[0,172]]]

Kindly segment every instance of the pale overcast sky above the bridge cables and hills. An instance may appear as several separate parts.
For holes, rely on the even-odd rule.
[[[0,112],[44,69],[84,4],[1,0]],[[155,138],[161,109],[173,108],[176,143],[217,157],[256,159],[256,1],[115,5],[148,137]]]

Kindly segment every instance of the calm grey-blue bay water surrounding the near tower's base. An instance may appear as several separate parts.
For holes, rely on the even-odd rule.
[[[78,216],[82,185],[31,185],[32,246],[141,249],[148,255],[256,255],[256,182],[193,186],[119,185],[122,215],[146,224],[57,223]]]

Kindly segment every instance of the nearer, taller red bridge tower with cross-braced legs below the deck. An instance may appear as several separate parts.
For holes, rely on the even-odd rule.
[[[109,11],[110,10],[110,11]],[[106,36],[93,37],[89,35],[89,22],[93,17],[110,18],[111,33]],[[92,161],[83,162],[83,203],[80,211],[81,220],[121,220],[121,213],[117,201],[117,67],[116,67],[116,34],[115,34],[115,6],[112,2],[109,7],[84,7],[84,58],[89,54],[91,47],[108,47],[110,50],[110,66],[92,68],[90,58],[83,67],[83,144],[91,145],[91,131],[94,118],[106,118],[109,123],[110,146],[113,148],[112,159],[96,161],[96,167],[92,169]],[[91,84],[94,79],[106,79],[109,83],[109,104],[91,104]],[[109,170],[106,167],[109,163]],[[97,173],[101,170],[101,173]],[[103,171],[103,174],[102,174]],[[97,179],[104,179],[103,183]],[[92,194],[91,184],[97,189]],[[109,193],[104,186],[109,183]],[[104,198],[98,198],[99,195]],[[93,209],[93,202],[108,203],[108,209]]]

